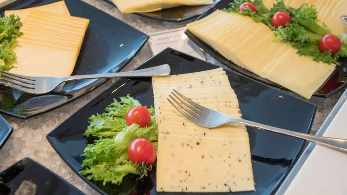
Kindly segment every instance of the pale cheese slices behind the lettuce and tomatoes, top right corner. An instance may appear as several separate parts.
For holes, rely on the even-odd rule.
[[[314,5],[318,11],[318,20],[325,23],[333,34],[347,33],[347,26],[342,20],[342,15],[346,14],[346,0],[283,0],[286,6],[299,8],[303,3]],[[264,0],[263,3],[267,8],[273,7],[276,0]]]

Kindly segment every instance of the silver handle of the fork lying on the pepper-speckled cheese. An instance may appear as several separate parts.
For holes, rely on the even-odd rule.
[[[315,136],[310,134],[304,134],[299,132],[294,132],[286,129],[281,129],[277,127],[271,127],[268,125],[263,125],[257,122],[245,120],[245,119],[238,119],[238,118],[229,118],[229,121],[227,122],[236,122],[239,124],[243,124],[246,126],[256,127],[264,130],[268,130],[270,132],[276,132],[283,135],[288,135],[300,139],[304,139],[306,141],[314,142],[316,144],[320,144],[322,146],[330,147],[335,150],[347,152],[347,139],[339,139],[339,138],[331,138],[331,137],[321,137],[321,136]]]

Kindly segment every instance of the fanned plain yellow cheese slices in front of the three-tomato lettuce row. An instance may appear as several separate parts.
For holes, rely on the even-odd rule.
[[[248,16],[216,10],[188,24],[187,28],[236,65],[307,99],[336,66],[315,62],[309,56],[299,56],[290,43],[274,42],[275,33]]]

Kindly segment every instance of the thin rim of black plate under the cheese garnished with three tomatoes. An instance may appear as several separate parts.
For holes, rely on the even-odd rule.
[[[217,2],[217,3],[219,3],[219,2]],[[215,7],[215,5],[216,5],[217,3],[215,3],[210,9],[204,11],[203,14],[201,14],[200,16],[198,16],[198,17],[196,18],[195,21],[200,20],[202,17],[205,17],[206,12],[208,12],[208,11],[214,9],[214,7]],[[194,21],[194,22],[195,22],[195,21]],[[191,41],[193,41],[199,48],[201,48],[201,47],[200,47],[200,44],[199,44],[198,42],[196,42],[196,40],[192,37],[192,35],[194,36],[193,33],[191,33],[188,29],[186,29],[185,32],[184,32],[184,34],[187,35],[188,38],[189,38]],[[200,40],[200,39],[199,39],[199,40]],[[201,49],[204,50],[207,54],[209,54],[208,51],[206,51],[205,48],[201,48]],[[210,54],[209,54],[209,55],[210,55]],[[210,56],[211,56],[211,55],[210,55]],[[213,56],[211,56],[211,57],[214,58]],[[219,61],[219,62],[222,63],[223,65],[225,65],[220,59],[218,59],[218,58],[214,58],[214,59],[217,60],[217,61]],[[234,62],[231,62],[231,63],[234,63]],[[235,64],[235,65],[236,65],[236,64]],[[225,66],[227,66],[227,65],[225,65]],[[236,66],[237,66],[237,65],[236,65]],[[231,68],[231,67],[230,67],[230,68]],[[237,70],[236,70],[236,71],[237,71]],[[238,72],[238,71],[237,71],[237,72]],[[334,71],[334,72],[335,72],[335,71]],[[251,77],[249,77],[248,75],[245,75],[244,73],[241,73],[241,72],[238,72],[238,73],[242,74],[243,76],[246,76],[247,78],[251,78]],[[252,72],[250,72],[250,73],[252,73]],[[252,74],[254,74],[254,73],[252,73]],[[255,74],[254,74],[254,75],[255,75]],[[331,77],[332,75],[333,75],[333,74],[331,73],[331,75],[330,75],[330,76],[327,78],[327,80],[325,80],[325,82],[318,88],[318,90],[320,90],[320,88],[321,88],[322,86],[324,86],[324,84],[330,79],[330,77]],[[258,80],[257,80],[257,81],[258,81]],[[258,82],[259,82],[259,81],[258,81]],[[283,89],[283,90],[290,91],[290,90],[288,90],[287,88],[285,88],[285,87],[283,87],[283,86],[281,86],[281,85],[279,85],[279,84],[277,84],[277,83],[274,83],[274,82],[272,82],[272,83],[269,83],[269,82],[261,82],[261,83],[266,84],[266,85],[268,85],[268,86],[273,86],[273,87],[276,87],[276,88],[281,88],[281,89]],[[317,91],[318,91],[318,90],[317,90],[316,92],[313,93],[313,96],[317,96],[317,97],[329,97],[329,96],[335,94],[336,92],[340,91],[340,90],[341,90],[342,88],[344,88],[345,86],[347,86],[347,82],[345,82],[343,85],[341,85],[340,87],[336,88],[335,90],[333,90],[333,91],[331,91],[331,92],[329,92],[329,93],[327,93],[327,94],[317,93]]]

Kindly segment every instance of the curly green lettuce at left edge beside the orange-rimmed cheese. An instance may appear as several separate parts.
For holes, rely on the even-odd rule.
[[[17,43],[17,37],[23,34],[19,32],[21,26],[20,18],[13,14],[0,18],[0,70],[14,68],[11,62],[16,60],[16,53],[12,47]]]

